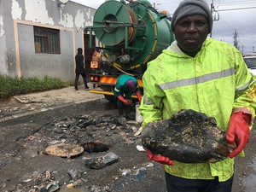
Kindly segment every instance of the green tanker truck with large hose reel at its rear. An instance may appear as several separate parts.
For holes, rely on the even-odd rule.
[[[90,62],[89,79],[101,89],[90,90],[103,94],[113,102],[113,89],[120,74],[137,79],[143,95],[143,73],[153,60],[174,40],[171,18],[166,11],[157,11],[147,0],[107,0],[96,9],[89,32],[90,48],[100,49],[102,61]],[[92,35],[98,44],[92,47]],[[137,96],[132,96],[136,98]]]

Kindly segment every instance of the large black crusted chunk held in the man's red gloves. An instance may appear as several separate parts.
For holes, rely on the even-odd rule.
[[[142,143],[153,154],[183,163],[224,160],[236,146],[214,118],[194,110],[181,110],[171,119],[150,122],[143,128]]]

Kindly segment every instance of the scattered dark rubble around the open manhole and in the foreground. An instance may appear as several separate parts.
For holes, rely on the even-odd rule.
[[[62,173],[49,168],[27,175],[26,179],[16,186],[15,191],[49,192],[63,188],[77,188],[83,192],[113,191],[119,189],[123,182],[141,179],[146,174],[147,167],[151,167],[148,166],[149,162],[142,165],[143,167],[135,166],[135,170],[131,167],[120,170],[113,177],[117,183],[108,183],[103,187],[86,184],[90,179],[89,172],[106,169],[107,166],[114,166],[122,160],[123,157],[119,156],[115,149],[117,145],[132,145],[135,153],[143,152],[136,147],[141,143],[140,137],[135,134],[139,126],[140,123],[136,121],[125,121],[125,125],[122,125],[119,119],[111,114],[95,117],[84,114],[49,121],[39,131],[21,140],[20,145],[26,149],[26,155],[32,158],[49,155],[65,158],[72,162],[72,165]]]

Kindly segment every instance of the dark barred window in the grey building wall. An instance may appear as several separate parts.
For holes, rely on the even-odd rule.
[[[36,53],[61,54],[60,30],[34,26]]]

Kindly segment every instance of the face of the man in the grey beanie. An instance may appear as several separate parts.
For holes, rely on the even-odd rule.
[[[190,56],[195,56],[200,51],[208,32],[207,18],[203,15],[184,17],[174,28],[178,47]]]

